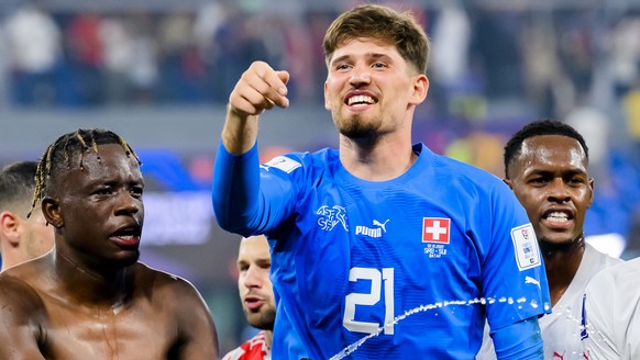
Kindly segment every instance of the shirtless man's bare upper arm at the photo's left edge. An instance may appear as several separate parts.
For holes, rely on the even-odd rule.
[[[0,277],[0,359],[44,359],[40,349],[43,308],[29,285]]]

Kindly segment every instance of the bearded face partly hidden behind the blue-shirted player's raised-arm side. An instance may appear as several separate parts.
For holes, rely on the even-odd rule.
[[[269,280],[272,266],[264,236],[243,238],[238,254],[238,290],[249,325],[273,330],[276,317],[274,290]]]

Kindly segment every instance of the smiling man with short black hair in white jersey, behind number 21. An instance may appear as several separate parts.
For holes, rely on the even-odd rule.
[[[583,225],[594,194],[588,148],[570,125],[530,123],[505,146],[505,182],[527,210],[544,258],[552,313],[540,318],[544,359],[584,359],[582,302],[588,281],[621,262],[584,240]],[[495,359],[488,334],[477,359]]]

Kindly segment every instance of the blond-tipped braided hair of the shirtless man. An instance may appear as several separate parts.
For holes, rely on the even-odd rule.
[[[59,170],[63,164],[66,164],[67,169],[70,169],[75,155],[77,155],[79,168],[84,169],[82,160],[85,153],[90,150],[96,154],[98,161],[101,162],[98,145],[103,144],[120,145],[126,153],[126,156],[133,156],[135,161],[137,161],[137,165],[142,166],[142,161],[140,161],[140,158],[133,148],[122,137],[111,131],[101,128],[79,128],[73,133],[62,135],[46,148],[43,157],[37,164],[33,201],[26,217],[29,218],[31,216],[35,209],[35,204],[44,199],[48,180],[53,172]]]

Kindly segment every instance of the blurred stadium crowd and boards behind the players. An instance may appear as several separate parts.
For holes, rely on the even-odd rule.
[[[78,127],[124,137],[147,182],[142,260],[200,290],[223,352],[252,331],[236,290],[239,236],[218,227],[210,203],[227,99],[251,61],[266,60],[290,72],[291,108],[265,114],[263,160],[335,146],[321,41],[357,2],[274,3],[0,1],[0,166],[36,160]],[[589,241],[639,255],[640,0],[385,3],[413,11],[432,41],[415,142],[503,177],[503,146],[519,127],[570,123],[596,183]]]

